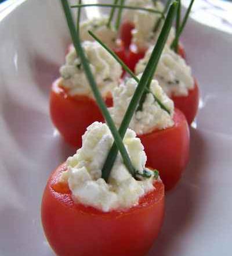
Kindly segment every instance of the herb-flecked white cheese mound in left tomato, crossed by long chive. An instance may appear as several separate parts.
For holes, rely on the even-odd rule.
[[[122,74],[121,65],[97,42],[82,42],[97,87],[105,97],[118,86]],[[93,97],[81,60],[74,47],[66,55],[66,63],[60,67],[61,84],[71,96],[84,94]]]

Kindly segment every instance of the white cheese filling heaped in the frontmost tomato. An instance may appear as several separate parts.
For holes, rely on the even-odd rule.
[[[108,126],[95,122],[82,136],[82,148],[67,159],[67,171],[61,175],[61,182],[68,182],[73,200],[108,212],[114,209],[130,208],[139,203],[139,198],[154,188],[154,174],[144,180],[136,180],[126,169],[118,154],[111,170],[108,183],[101,178],[102,167],[113,144]],[[128,129],[124,145],[136,170],[143,172],[147,161],[143,145],[135,131]]]

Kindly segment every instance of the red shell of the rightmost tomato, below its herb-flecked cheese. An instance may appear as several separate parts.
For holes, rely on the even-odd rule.
[[[199,88],[197,81],[195,80],[193,90],[189,90],[189,95],[185,97],[172,96],[171,98],[174,101],[176,108],[180,109],[184,113],[187,122],[191,125],[197,115],[199,104]]]

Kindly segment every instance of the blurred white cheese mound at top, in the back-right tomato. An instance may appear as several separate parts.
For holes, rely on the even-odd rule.
[[[154,2],[152,0],[129,0],[126,2],[126,4],[154,9],[160,12],[164,10],[164,5],[160,1]],[[150,45],[155,45],[157,42],[162,28],[162,23],[157,31],[154,32],[154,29],[155,24],[157,24],[160,17],[161,15],[159,13],[147,12],[145,10],[125,10],[124,20],[132,22],[135,25],[135,29],[132,30],[132,42],[139,49],[147,49]],[[174,38],[175,29],[172,27],[166,44],[170,46]]]

